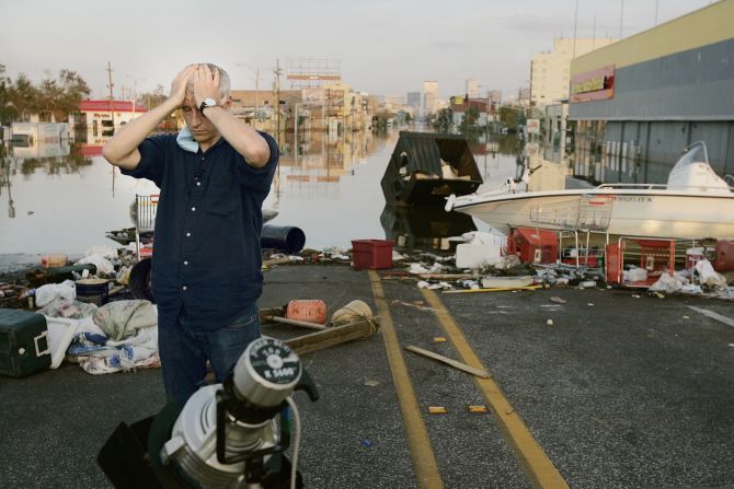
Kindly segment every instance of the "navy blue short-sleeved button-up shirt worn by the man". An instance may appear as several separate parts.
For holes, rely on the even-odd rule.
[[[279,158],[275,140],[260,133],[271,149],[262,168],[223,138],[193,153],[162,135],[146,139],[138,166],[123,171],[161,189],[152,258],[159,314],[175,317],[183,306],[202,329],[216,329],[260,296],[262,205]]]

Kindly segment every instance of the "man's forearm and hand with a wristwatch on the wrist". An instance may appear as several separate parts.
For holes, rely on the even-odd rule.
[[[199,66],[194,77],[194,100],[198,106],[204,98],[219,100],[219,72],[214,74],[209,67]],[[221,103],[222,101],[220,101]],[[229,104],[229,101],[226,103]],[[267,164],[271,158],[271,148],[260,133],[234,117],[221,106],[208,107],[203,114],[211,121],[217,131],[234,151],[240,153],[244,160],[254,167],[261,168]]]

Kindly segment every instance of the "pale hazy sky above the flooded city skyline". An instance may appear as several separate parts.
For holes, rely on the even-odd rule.
[[[689,13],[710,0],[578,0],[577,36],[629,36]],[[2,0],[0,63],[39,81],[68,68],[106,92],[107,61],[116,89],[162,84],[190,62],[227,69],[233,89],[273,82],[276,58],[341,59],[354,90],[405,95],[437,80],[441,96],[465,80],[514,94],[528,84],[530,58],[554,37],[573,37],[576,0]],[[282,81],[283,88],[288,82]],[[117,93],[116,93],[117,95]]]

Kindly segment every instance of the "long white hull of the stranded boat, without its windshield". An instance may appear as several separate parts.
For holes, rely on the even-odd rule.
[[[610,235],[734,238],[734,194],[588,189],[456,200],[466,212],[508,234],[512,228],[596,231]]]

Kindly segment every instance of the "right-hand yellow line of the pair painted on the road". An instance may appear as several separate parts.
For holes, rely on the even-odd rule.
[[[459,352],[462,361],[471,366],[486,370],[479,360],[479,357],[477,357],[477,353],[474,353],[474,350],[469,346],[461,329],[448,313],[444,303],[438,299],[438,295],[434,291],[426,289],[421,289],[421,292],[431,307],[436,311],[438,321]],[[509,444],[515,449],[517,457],[532,478],[532,482],[541,488],[567,488],[569,485],[563,480],[561,474],[559,474],[553,463],[546,455],[546,452],[532,438],[523,418],[515,412],[515,409],[497,383],[493,379],[473,379],[482,391],[484,399],[492,406],[492,410],[500,421],[501,430],[505,433]]]

